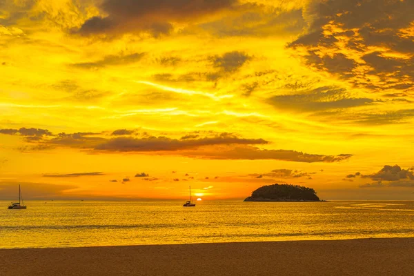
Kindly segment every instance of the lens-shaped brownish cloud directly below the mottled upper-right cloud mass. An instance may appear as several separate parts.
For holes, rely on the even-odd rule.
[[[296,110],[298,112],[353,108],[374,103],[373,99],[354,98],[344,88],[324,86],[313,90],[305,90],[301,94],[279,95],[268,99],[268,102],[279,109]]]

